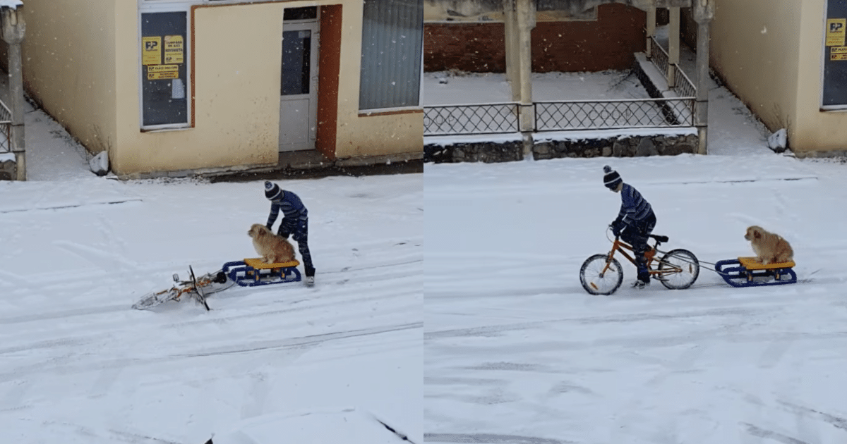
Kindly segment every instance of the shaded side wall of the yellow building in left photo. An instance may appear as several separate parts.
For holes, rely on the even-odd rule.
[[[117,142],[114,5],[26,0],[23,8],[26,92],[92,152]]]

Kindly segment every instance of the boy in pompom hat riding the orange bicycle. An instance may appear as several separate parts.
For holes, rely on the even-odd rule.
[[[650,285],[650,271],[647,269],[645,253],[650,249],[647,239],[650,233],[653,233],[653,227],[656,227],[656,215],[641,193],[632,185],[624,184],[621,175],[612,167],[606,165],[603,167],[603,173],[603,184],[606,188],[621,194],[621,211],[612,222],[612,233],[632,245],[638,266],[638,280],[634,282],[633,287],[644,288],[645,285]]]

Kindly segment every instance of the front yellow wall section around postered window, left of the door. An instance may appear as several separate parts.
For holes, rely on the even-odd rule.
[[[143,133],[139,130],[138,25],[135,14],[125,15],[132,19],[119,24],[121,46],[134,51],[127,51],[131,54],[125,54],[121,63],[131,69],[121,72],[114,171],[148,173],[277,162],[282,57],[278,3],[196,8],[194,128]]]

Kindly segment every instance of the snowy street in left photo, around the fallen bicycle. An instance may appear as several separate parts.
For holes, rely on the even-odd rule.
[[[235,286],[208,312],[130,305],[256,257],[261,181],[0,183],[0,442],[202,444],[264,414],[293,414],[292,432],[325,414],[316,439],[399,441],[382,421],[422,442],[421,179],[279,181],[309,209],[316,285]]]

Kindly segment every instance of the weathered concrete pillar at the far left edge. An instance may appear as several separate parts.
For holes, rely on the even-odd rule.
[[[17,180],[26,180],[26,145],[24,140],[24,78],[20,43],[24,41],[26,24],[22,7],[0,9],[3,41],[8,44],[8,96],[12,112],[12,134],[9,144],[17,163]]]

